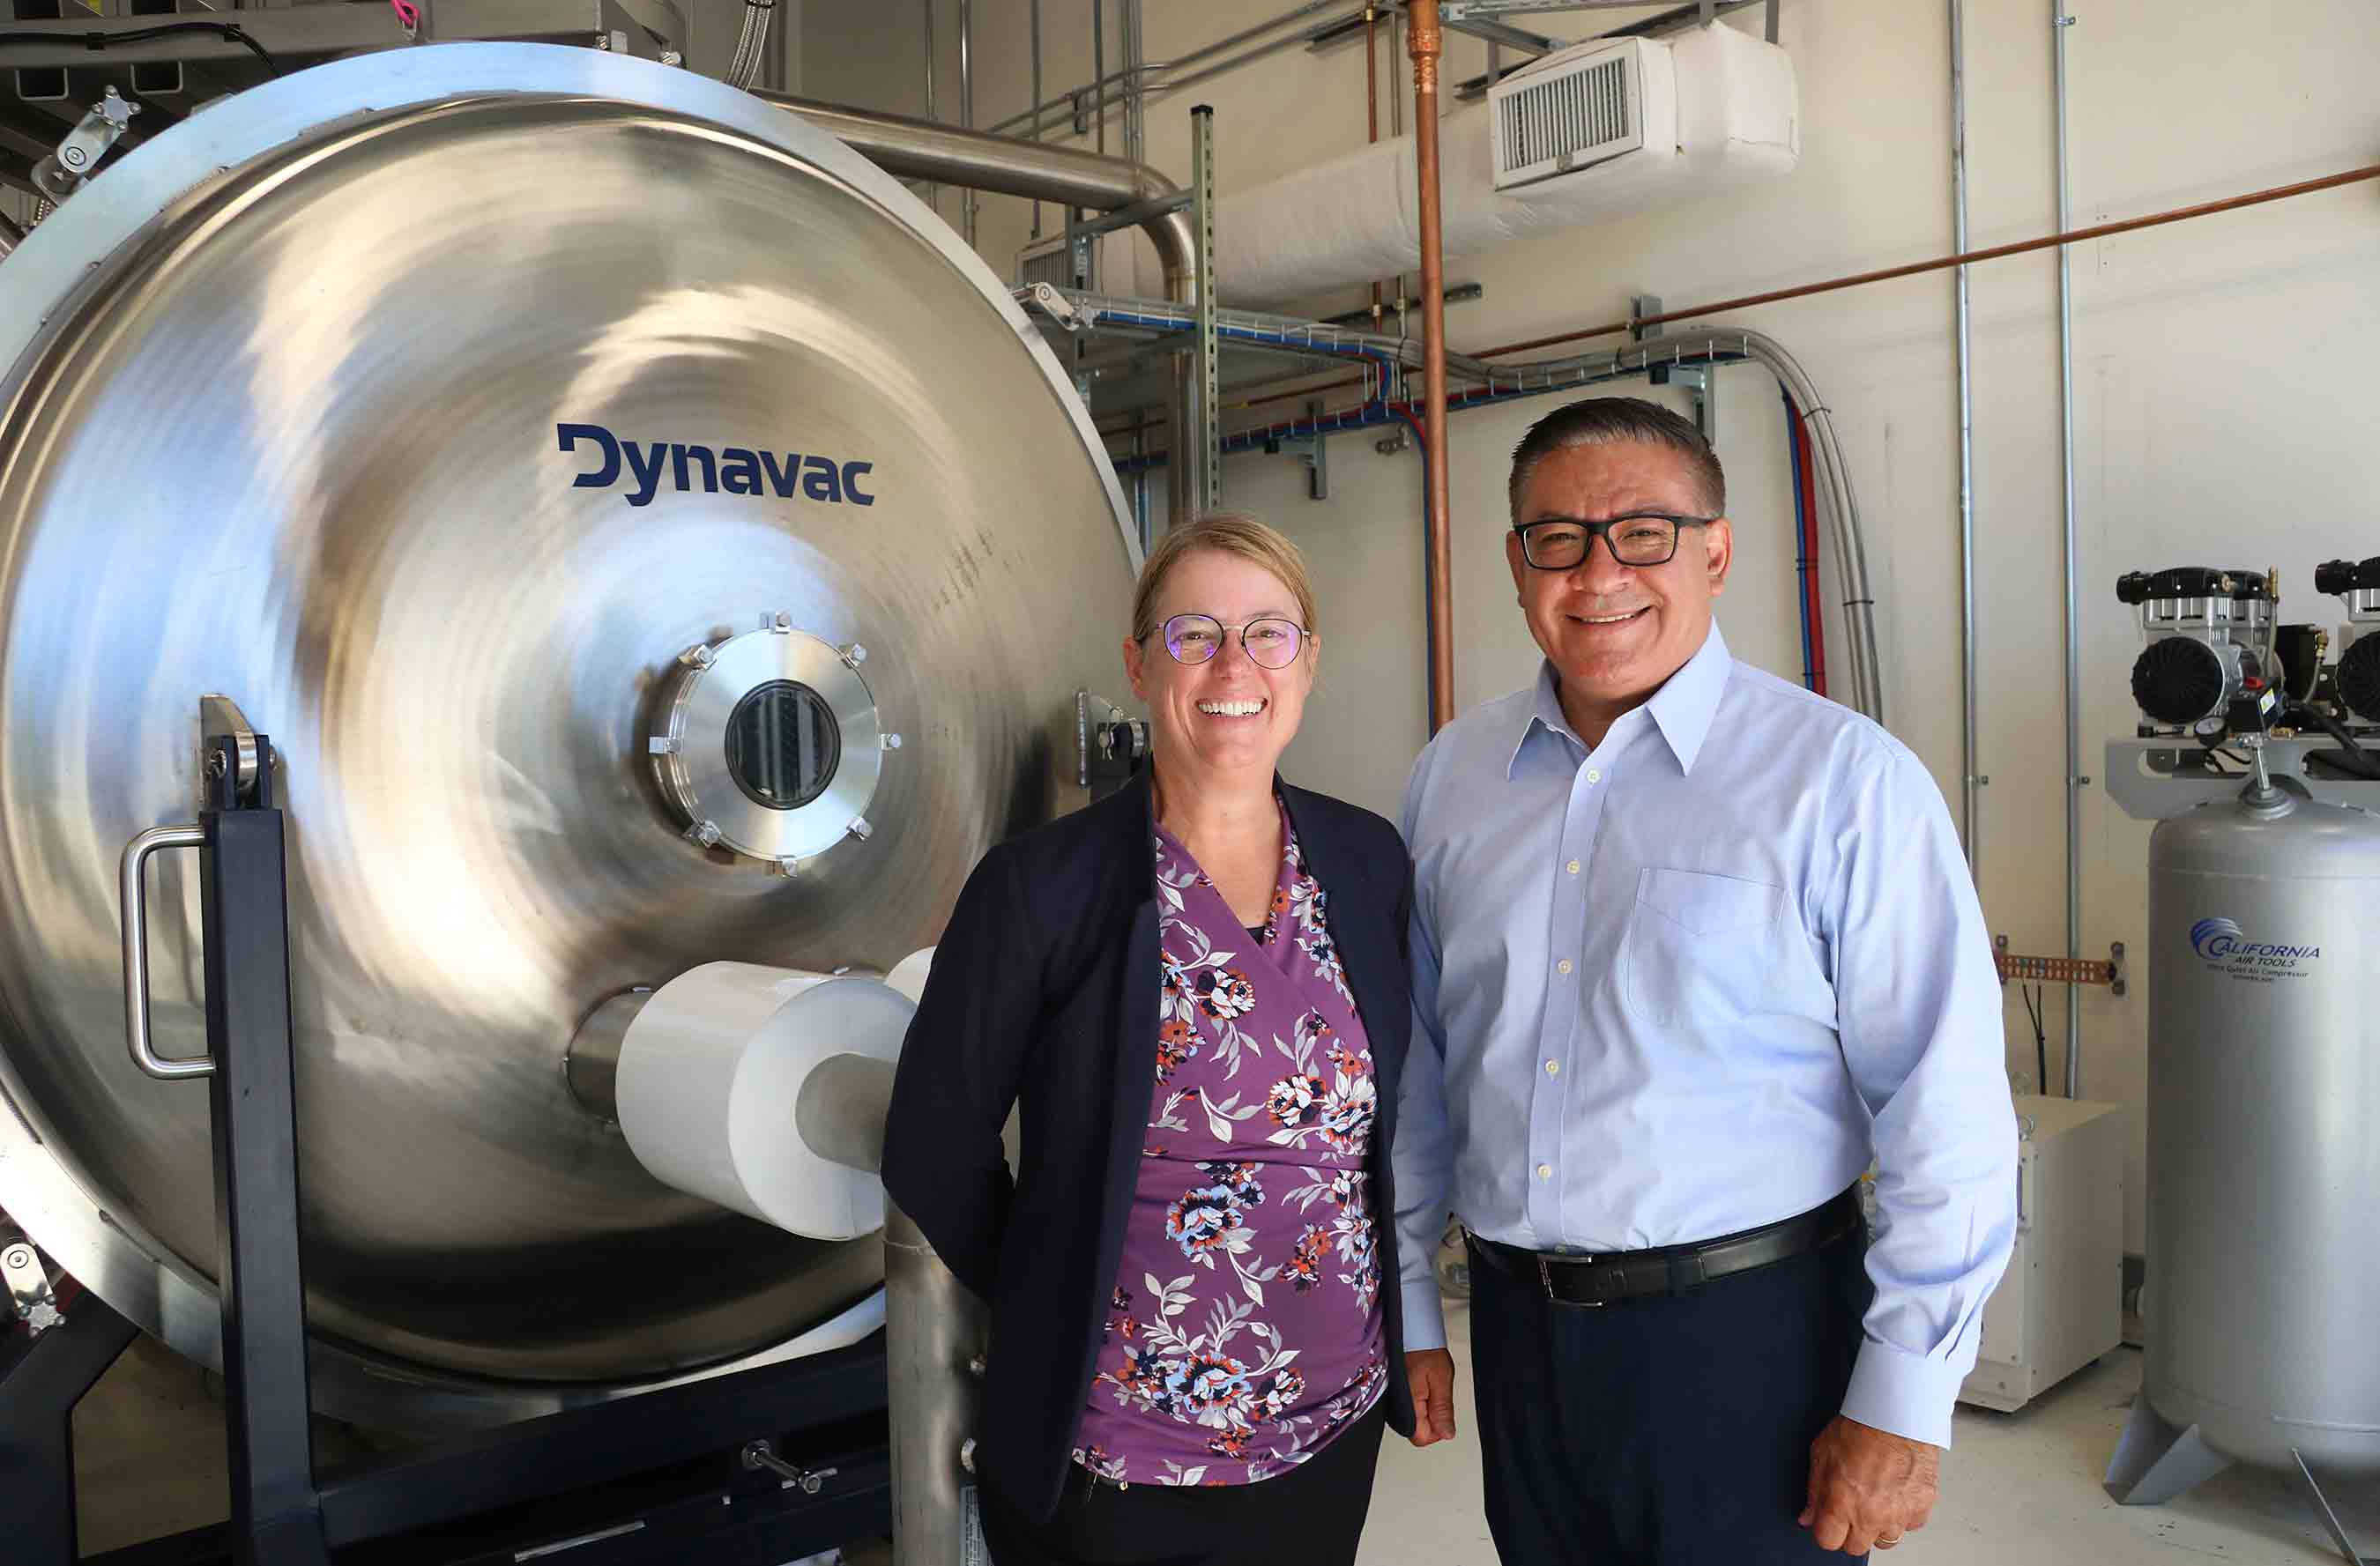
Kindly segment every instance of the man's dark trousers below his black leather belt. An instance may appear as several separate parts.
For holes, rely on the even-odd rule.
[[[1873,1290],[1866,1233],[1683,1295],[1547,1299],[1471,1257],[1471,1385],[1504,1566],[1844,1566],[1795,1518]]]

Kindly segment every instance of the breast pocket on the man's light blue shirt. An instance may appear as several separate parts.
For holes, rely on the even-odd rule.
[[[1637,873],[1621,1004],[1664,1028],[1714,1028],[1764,1009],[1785,890],[1706,871]]]

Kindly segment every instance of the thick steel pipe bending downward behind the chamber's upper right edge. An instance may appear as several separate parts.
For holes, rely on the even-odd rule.
[[[1076,152],[1073,148],[1045,148],[1004,136],[985,136],[983,131],[954,131],[923,119],[845,109],[785,93],[754,93],[754,98],[819,126],[828,136],[843,138],[852,150],[902,178],[933,178],[950,186],[966,186],[969,190],[1023,195],[1026,200],[1090,207],[1092,212],[1116,212],[1180,193],[1180,186],[1157,169],[1121,157]],[[1195,305],[1197,240],[1190,228],[1190,214],[1159,212],[1145,219],[1140,231],[1157,245],[1157,259],[1166,271],[1166,297],[1176,305]],[[1197,438],[1195,364],[1190,355],[1176,355],[1171,381],[1169,438],[1173,450],[1188,452],[1190,459],[1171,464],[1169,490],[1173,516],[1185,519],[1197,505],[1192,497],[1204,493],[1209,462]]]

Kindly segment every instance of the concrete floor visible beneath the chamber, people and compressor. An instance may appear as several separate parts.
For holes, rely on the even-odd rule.
[[[1428,1452],[1390,1437],[1359,1566],[1495,1566],[1468,1418],[1471,1326],[1459,1302],[1447,1304],[1447,1316],[1464,1373],[1461,1435]],[[2137,1388],[2140,1354],[2118,1349],[2018,1414],[1959,1409],[1956,1449],[1944,1461],[1933,1526],[1878,1559],[1890,1566],[2182,1566],[2206,1559],[2340,1566],[2311,1502],[2273,1473],[2232,1468],[2168,1507],[2132,1509],[2106,1499],[2099,1476]],[[317,1442],[326,1457],[357,1445],[336,1426],[317,1426]],[[162,1454],[171,1461],[159,1461]],[[76,1459],[86,1552],[224,1516],[221,1409],[193,1366],[145,1338],[76,1411]],[[2361,1492],[2340,1485],[2330,1499],[2356,1545],[2380,1552],[2380,1485]],[[885,1566],[890,1549],[857,1547],[850,1559]]]

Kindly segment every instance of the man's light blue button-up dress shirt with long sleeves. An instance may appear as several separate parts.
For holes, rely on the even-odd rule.
[[[1818,1207],[1873,1157],[1842,1411],[1947,1447],[2016,1235],[2016,1114],[1983,909],[1909,747],[1711,626],[1602,745],[1552,666],[1464,714],[1402,826],[1407,1347],[1447,1340],[1449,1207],[1528,1249],[1687,1245]]]

